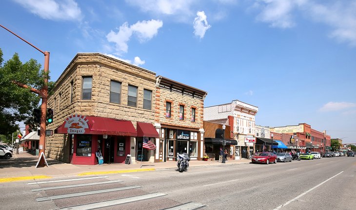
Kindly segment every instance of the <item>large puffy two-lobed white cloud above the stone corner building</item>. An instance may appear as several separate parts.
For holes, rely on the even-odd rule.
[[[163,26],[161,20],[144,20],[138,21],[134,25],[129,26],[127,22],[122,24],[119,28],[119,32],[110,31],[106,36],[109,42],[116,43],[117,54],[127,53],[127,42],[131,36],[137,34],[139,41],[147,41],[157,35],[158,29]]]

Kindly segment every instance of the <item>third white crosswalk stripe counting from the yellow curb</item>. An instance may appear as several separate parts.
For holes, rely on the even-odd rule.
[[[130,189],[135,189],[135,188],[140,188],[140,187],[133,185],[133,186],[105,189],[105,190],[99,190],[99,191],[86,191],[86,192],[77,192],[77,193],[62,194],[62,195],[53,195],[53,196],[48,196],[48,197],[36,198],[36,200],[38,202],[49,201],[49,200],[55,200],[55,199],[60,199],[60,198],[71,198],[71,197],[77,197],[77,196],[83,196],[83,195],[99,194],[99,193],[104,193],[104,192],[124,191],[124,190],[130,190]]]

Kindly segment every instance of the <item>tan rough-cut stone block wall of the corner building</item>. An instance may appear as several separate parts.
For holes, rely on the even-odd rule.
[[[91,100],[81,99],[82,76],[92,76]],[[110,81],[121,82],[120,104],[110,102]],[[73,100],[71,90],[73,85]],[[138,87],[137,107],[127,105],[128,85]],[[101,116],[136,122],[154,123],[156,73],[101,55],[77,54],[56,82],[47,107],[54,109],[54,121],[47,130],[58,128],[69,115]],[[143,89],[152,91],[151,110],[143,109]],[[46,137],[46,156],[69,161],[68,134]]]

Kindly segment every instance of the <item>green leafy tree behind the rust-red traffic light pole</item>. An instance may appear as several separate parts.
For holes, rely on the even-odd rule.
[[[35,130],[38,124],[33,120],[32,111],[39,107],[40,96],[31,88],[44,85],[44,71],[35,59],[22,63],[17,53],[4,64],[0,49],[0,134],[11,134],[19,129],[16,122],[23,121]],[[20,87],[25,84],[27,88]],[[49,93],[54,82],[48,83]]]

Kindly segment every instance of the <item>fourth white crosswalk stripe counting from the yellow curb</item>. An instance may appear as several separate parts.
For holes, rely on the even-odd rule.
[[[128,198],[120,198],[116,200],[111,200],[111,201],[103,201],[99,203],[93,203],[93,204],[85,204],[85,205],[80,205],[80,206],[74,206],[74,207],[68,207],[68,208],[63,208],[60,210],[91,210],[91,209],[98,209],[98,208],[104,208],[104,207],[109,207],[109,206],[114,206],[114,205],[119,205],[119,204],[124,204],[124,203],[130,203],[130,202],[135,202],[139,200],[146,200],[150,198],[156,198],[160,197],[163,195],[167,195],[161,192],[154,192],[150,194],[145,194],[145,195],[138,195],[134,197],[128,197]]]

